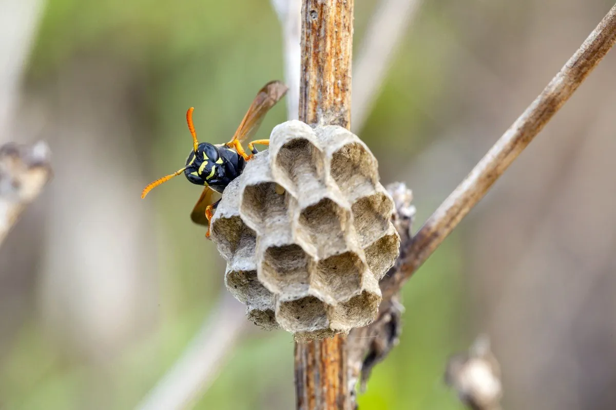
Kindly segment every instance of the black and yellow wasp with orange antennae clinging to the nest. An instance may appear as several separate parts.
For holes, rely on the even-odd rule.
[[[141,192],[142,199],[153,188],[169,181],[174,176],[184,173],[188,181],[196,185],[205,186],[203,192],[201,192],[201,197],[199,197],[192,213],[190,213],[190,219],[196,224],[208,227],[205,236],[209,239],[209,222],[212,219],[213,211],[222,199],[213,202],[214,192],[222,194],[227,185],[241,175],[246,162],[251,160],[254,154],[258,152],[254,148],[254,144],[269,145],[269,140],[251,141],[248,144],[248,149],[251,153],[246,154],[241,144],[249,138],[253,138],[263,122],[265,114],[285,96],[287,90],[288,87],[280,81],[270,81],[265,84],[254,98],[235,134],[233,134],[233,138],[225,144],[199,143],[192,121],[194,108],[188,108],[186,122],[188,123],[190,135],[193,138],[193,149],[188,154],[186,166],[148,184]]]

